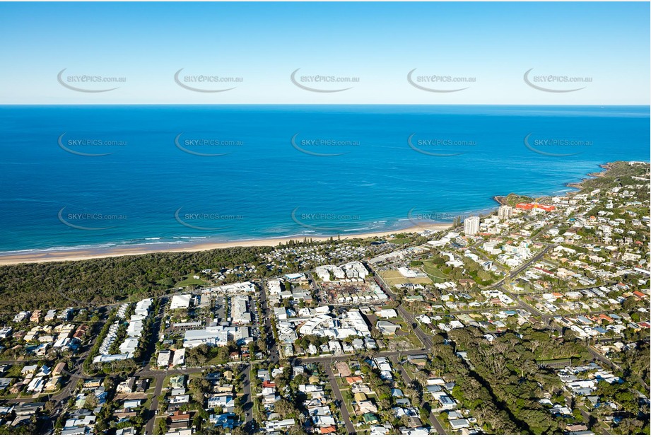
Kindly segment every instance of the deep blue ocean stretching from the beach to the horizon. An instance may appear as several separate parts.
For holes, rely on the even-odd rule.
[[[0,132],[0,252],[388,231],[650,159],[647,106],[0,106]]]

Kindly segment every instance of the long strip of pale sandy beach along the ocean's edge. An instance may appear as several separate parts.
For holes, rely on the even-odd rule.
[[[384,237],[395,233],[411,233],[422,231],[445,231],[452,226],[450,223],[441,224],[423,224],[420,226],[411,226],[399,231],[387,231],[380,233],[360,233],[351,235],[341,235],[341,240],[351,240],[353,238]],[[253,247],[253,246],[277,246],[287,243],[289,240],[303,240],[305,235],[295,235],[293,237],[281,239],[262,239],[262,240],[235,240],[225,243],[189,243],[187,245],[131,245],[121,247],[111,247],[108,249],[98,250],[53,250],[52,252],[31,252],[25,254],[0,255],[0,265],[20,264],[25,262],[53,262],[53,261],[78,261],[90,260],[93,258],[122,257],[125,255],[144,255],[148,253],[160,252],[199,252],[201,250],[223,249],[225,247]],[[329,240],[331,237],[311,237],[314,241]],[[337,238],[333,235],[332,238]]]

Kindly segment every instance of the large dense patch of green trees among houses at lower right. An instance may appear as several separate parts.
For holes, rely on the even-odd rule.
[[[447,341],[437,335],[434,343],[428,367],[455,380],[452,395],[488,433],[562,433],[573,423],[574,418],[555,418],[539,404],[545,391],[562,399],[562,384],[536,360],[587,359],[580,344],[532,329],[523,330],[522,339],[507,332],[491,343],[476,328],[453,330]],[[467,352],[467,361],[454,354],[454,347]]]

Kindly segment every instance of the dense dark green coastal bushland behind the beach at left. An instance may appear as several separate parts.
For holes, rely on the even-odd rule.
[[[253,263],[257,255],[270,251],[271,247],[230,247],[0,266],[0,299],[4,313],[16,313],[160,296],[192,272]],[[266,266],[262,267],[264,276]]]

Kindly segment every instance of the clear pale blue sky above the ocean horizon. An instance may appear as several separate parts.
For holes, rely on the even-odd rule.
[[[650,103],[650,5],[621,3],[0,3],[0,103]],[[241,77],[197,93],[174,74]],[[358,77],[313,93],[290,75]],[[57,74],[124,76],[106,93]],[[406,76],[459,76],[422,83]],[[591,78],[549,93],[538,75]],[[68,82],[71,85],[74,83]],[[303,82],[308,85],[307,82]],[[575,84],[537,83],[553,89]],[[79,84],[78,84],[79,85]],[[109,88],[83,84],[86,88]],[[199,86],[194,84],[195,86]],[[318,88],[344,88],[319,84]]]

